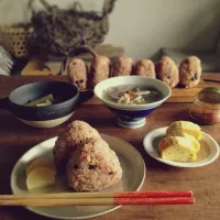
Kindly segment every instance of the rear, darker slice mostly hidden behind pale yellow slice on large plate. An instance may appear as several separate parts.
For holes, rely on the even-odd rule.
[[[56,174],[56,169],[55,169],[54,163],[51,162],[51,161],[47,160],[47,158],[40,157],[40,158],[35,158],[33,162],[31,162],[31,164],[29,164],[29,165],[26,166],[26,176],[28,176],[33,169],[38,168],[38,167],[50,168],[50,169],[52,169],[52,170]]]

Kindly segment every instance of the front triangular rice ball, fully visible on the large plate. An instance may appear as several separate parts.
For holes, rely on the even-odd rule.
[[[122,178],[120,162],[102,139],[77,147],[67,164],[67,180],[76,191],[97,191]]]

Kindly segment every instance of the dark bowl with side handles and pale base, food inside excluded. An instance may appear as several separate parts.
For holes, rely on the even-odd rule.
[[[26,103],[52,94],[57,103],[34,106]],[[0,100],[0,109],[11,111],[23,123],[34,128],[53,128],[67,121],[76,107],[94,96],[92,91],[79,92],[65,81],[40,81],[14,89],[9,97]]]

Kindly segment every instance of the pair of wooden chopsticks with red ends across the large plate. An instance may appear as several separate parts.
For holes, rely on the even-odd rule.
[[[0,206],[193,205],[193,191],[103,191],[0,195]]]

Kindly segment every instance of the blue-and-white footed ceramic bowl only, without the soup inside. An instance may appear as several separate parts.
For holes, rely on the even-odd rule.
[[[157,90],[161,97],[155,101],[144,105],[124,105],[112,101],[107,94],[107,89],[125,85],[144,86]],[[145,124],[145,118],[172,95],[172,89],[165,82],[144,76],[112,77],[99,82],[94,91],[116,116],[118,125],[127,129],[143,127]]]

